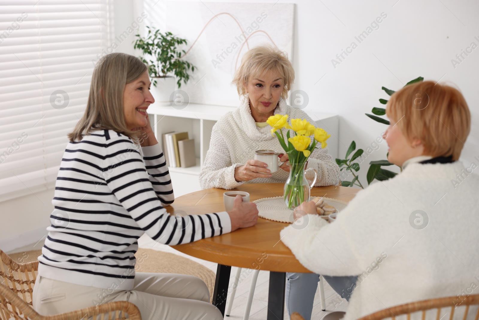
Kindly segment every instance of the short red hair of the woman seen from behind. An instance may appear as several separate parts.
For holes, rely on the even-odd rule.
[[[462,94],[433,81],[413,83],[391,95],[386,114],[410,141],[421,140],[424,154],[452,156],[454,161],[461,155],[471,126]]]

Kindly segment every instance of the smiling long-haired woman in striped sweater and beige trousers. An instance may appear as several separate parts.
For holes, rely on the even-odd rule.
[[[124,53],[100,59],[83,118],[68,135],[54,212],[42,255],[33,307],[54,315],[112,301],[135,304],[141,318],[223,319],[199,278],[135,274],[138,238],[163,244],[193,242],[256,223],[254,203],[235,199],[230,212],[186,215],[174,201],[170,173],[151,130],[147,66]]]

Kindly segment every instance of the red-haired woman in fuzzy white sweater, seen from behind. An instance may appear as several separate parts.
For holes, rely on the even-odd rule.
[[[458,161],[470,129],[464,97],[450,86],[415,83],[391,96],[386,113],[388,160],[402,172],[359,191],[331,224],[315,214],[314,203],[303,202],[297,213],[309,213],[308,225],[281,231],[309,270],[358,275],[343,288],[352,293],[344,320],[445,296],[457,295],[451,304],[460,307],[463,296],[477,294],[478,164]],[[452,319],[450,312],[443,309],[441,317]]]

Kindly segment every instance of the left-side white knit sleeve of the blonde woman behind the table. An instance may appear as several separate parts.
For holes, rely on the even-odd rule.
[[[217,125],[211,133],[210,147],[200,172],[202,189],[233,189],[243,184],[235,180],[235,169],[243,164],[232,164],[228,144],[221,136]]]

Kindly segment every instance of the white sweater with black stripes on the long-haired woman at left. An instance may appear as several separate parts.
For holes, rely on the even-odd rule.
[[[173,200],[159,144],[140,147],[113,130],[94,131],[80,142],[69,142],[38,274],[130,290],[137,239],[143,233],[176,245],[231,231],[227,212],[171,216],[163,207]]]

